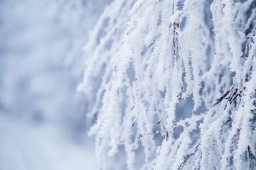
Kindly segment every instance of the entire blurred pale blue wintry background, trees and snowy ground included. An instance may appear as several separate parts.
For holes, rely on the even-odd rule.
[[[110,0],[0,1],[0,169],[97,169],[82,47]]]

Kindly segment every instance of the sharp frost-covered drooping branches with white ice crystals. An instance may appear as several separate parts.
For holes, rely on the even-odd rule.
[[[96,120],[89,135],[101,169],[123,149],[127,169],[255,169],[255,7],[116,0],[105,8],[78,87]]]

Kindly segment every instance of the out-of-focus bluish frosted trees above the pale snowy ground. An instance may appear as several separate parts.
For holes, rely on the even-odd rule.
[[[82,46],[109,2],[0,2],[0,113],[84,133]]]

